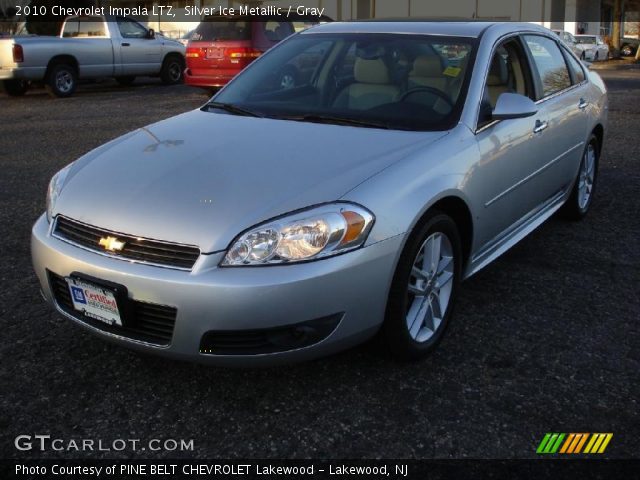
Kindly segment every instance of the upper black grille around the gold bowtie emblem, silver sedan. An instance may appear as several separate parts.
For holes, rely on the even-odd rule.
[[[191,270],[200,256],[198,247],[112,232],[60,215],[56,217],[53,234],[61,240],[103,255],[183,270]],[[101,238],[107,236],[113,236],[124,242],[124,248],[119,252],[110,252],[103,249],[99,242]]]

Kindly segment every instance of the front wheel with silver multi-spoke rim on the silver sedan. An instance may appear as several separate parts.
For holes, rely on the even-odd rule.
[[[409,237],[389,292],[380,335],[393,356],[417,360],[438,345],[453,313],[462,263],[455,222],[429,212]]]

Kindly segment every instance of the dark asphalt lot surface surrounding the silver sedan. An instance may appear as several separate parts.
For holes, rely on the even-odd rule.
[[[272,369],[140,355],[61,318],[38,293],[30,229],[49,178],[206,96],[156,82],[0,93],[0,457],[531,458],[546,432],[612,432],[640,452],[640,71],[603,71],[609,132],[593,210],[553,218],[463,284],[419,363],[371,345]],[[19,452],[17,435],[192,439],[187,452]]]

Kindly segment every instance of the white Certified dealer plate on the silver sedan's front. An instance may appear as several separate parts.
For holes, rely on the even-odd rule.
[[[109,325],[122,326],[118,302],[112,290],[84,280],[66,277],[73,308]]]

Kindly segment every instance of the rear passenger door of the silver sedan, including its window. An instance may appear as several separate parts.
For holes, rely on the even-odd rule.
[[[578,170],[586,141],[587,85],[584,71],[555,40],[543,35],[524,35],[536,84],[540,108],[540,171],[536,188],[540,201],[569,187]],[[570,57],[573,59],[573,57]],[[578,76],[581,74],[580,76]]]

